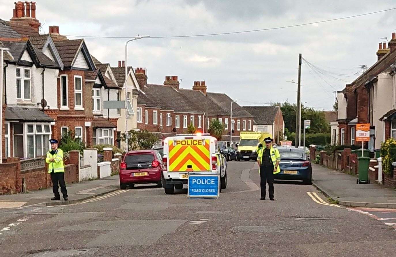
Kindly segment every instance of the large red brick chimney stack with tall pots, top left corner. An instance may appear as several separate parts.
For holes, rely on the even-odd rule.
[[[15,2],[15,9],[12,10],[10,23],[30,26],[38,33],[41,23],[36,19],[36,2]]]

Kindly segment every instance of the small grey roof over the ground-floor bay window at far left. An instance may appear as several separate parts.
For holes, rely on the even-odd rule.
[[[6,120],[25,122],[52,122],[53,118],[36,108],[6,107],[4,113]]]

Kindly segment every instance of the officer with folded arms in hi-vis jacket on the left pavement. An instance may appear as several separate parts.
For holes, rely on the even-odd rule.
[[[67,201],[67,190],[65,183],[65,167],[63,166],[63,151],[58,149],[58,141],[56,139],[50,139],[51,150],[47,152],[46,162],[48,163],[48,173],[51,174],[52,191],[55,194],[51,200],[61,200],[59,195],[59,185],[61,186],[61,192],[63,199]]]

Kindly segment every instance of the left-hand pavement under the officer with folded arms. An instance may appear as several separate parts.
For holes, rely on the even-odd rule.
[[[105,177],[103,179],[67,184],[66,188],[67,194],[69,196],[68,201],[64,201],[62,195],[61,201],[51,201],[51,198],[54,196],[52,187],[42,190],[29,191],[28,193],[0,195],[0,209],[26,206],[38,207],[73,204],[75,202],[98,197],[119,189],[120,179],[118,175],[114,175]]]

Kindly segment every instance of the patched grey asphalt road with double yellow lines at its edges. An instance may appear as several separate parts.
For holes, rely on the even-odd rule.
[[[276,200],[261,201],[254,167],[228,162],[219,199],[143,186],[3,210],[0,256],[394,256],[393,210],[334,206],[301,183],[276,183]]]

